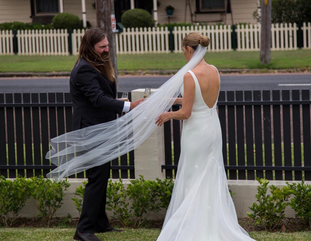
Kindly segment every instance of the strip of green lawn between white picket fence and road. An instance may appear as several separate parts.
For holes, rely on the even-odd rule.
[[[0,56],[0,72],[71,71],[77,56]],[[271,64],[259,62],[259,52],[208,52],[207,63],[218,69],[301,69],[311,68],[311,49],[272,51]],[[118,70],[177,70],[186,63],[183,53],[119,54]]]

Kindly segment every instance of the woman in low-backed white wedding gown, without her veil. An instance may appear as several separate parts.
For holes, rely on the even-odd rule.
[[[208,37],[190,33],[182,40],[187,62]],[[179,111],[165,112],[156,120],[183,120],[178,171],[162,232],[157,241],[254,240],[238,224],[222,157],[222,138],[216,104],[220,88],[218,70],[202,58],[183,77],[174,104]]]

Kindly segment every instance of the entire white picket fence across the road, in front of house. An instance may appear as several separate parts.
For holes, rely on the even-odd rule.
[[[271,50],[297,49],[297,25],[272,24],[271,26]],[[311,24],[304,23],[301,27],[303,33],[303,48],[311,49]],[[238,51],[260,50],[260,24],[237,25],[237,49]],[[181,40],[190,32],[200,32],[208,36],[211,44],[208,51],[231,51],[232,28],[230,25],[216,26],[187,26],[174,27],[174,52],[180,53]],[[73,30],[72,54],[78,54],[82,36],[85,30]],[[169,53],[169,30],[167,27],[153,28],[127,28],[116,35],[118,54],[125,53]],[[19,55],[69,55],[67,30],[18,30],[17,54]],[[13,54],[12,30],[0,31],[0,55]]]

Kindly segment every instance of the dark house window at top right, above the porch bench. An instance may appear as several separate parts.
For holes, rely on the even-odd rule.
[[[226,12],[227,11],[227,0],[196,0],[197,12],[208,13],[208,12]]]

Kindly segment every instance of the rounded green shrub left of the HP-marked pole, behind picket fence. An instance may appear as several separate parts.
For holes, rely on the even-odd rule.
[[[77,15],[63,12],[56,14],[52,23],[56,29],[81,29],[81,20]]]

